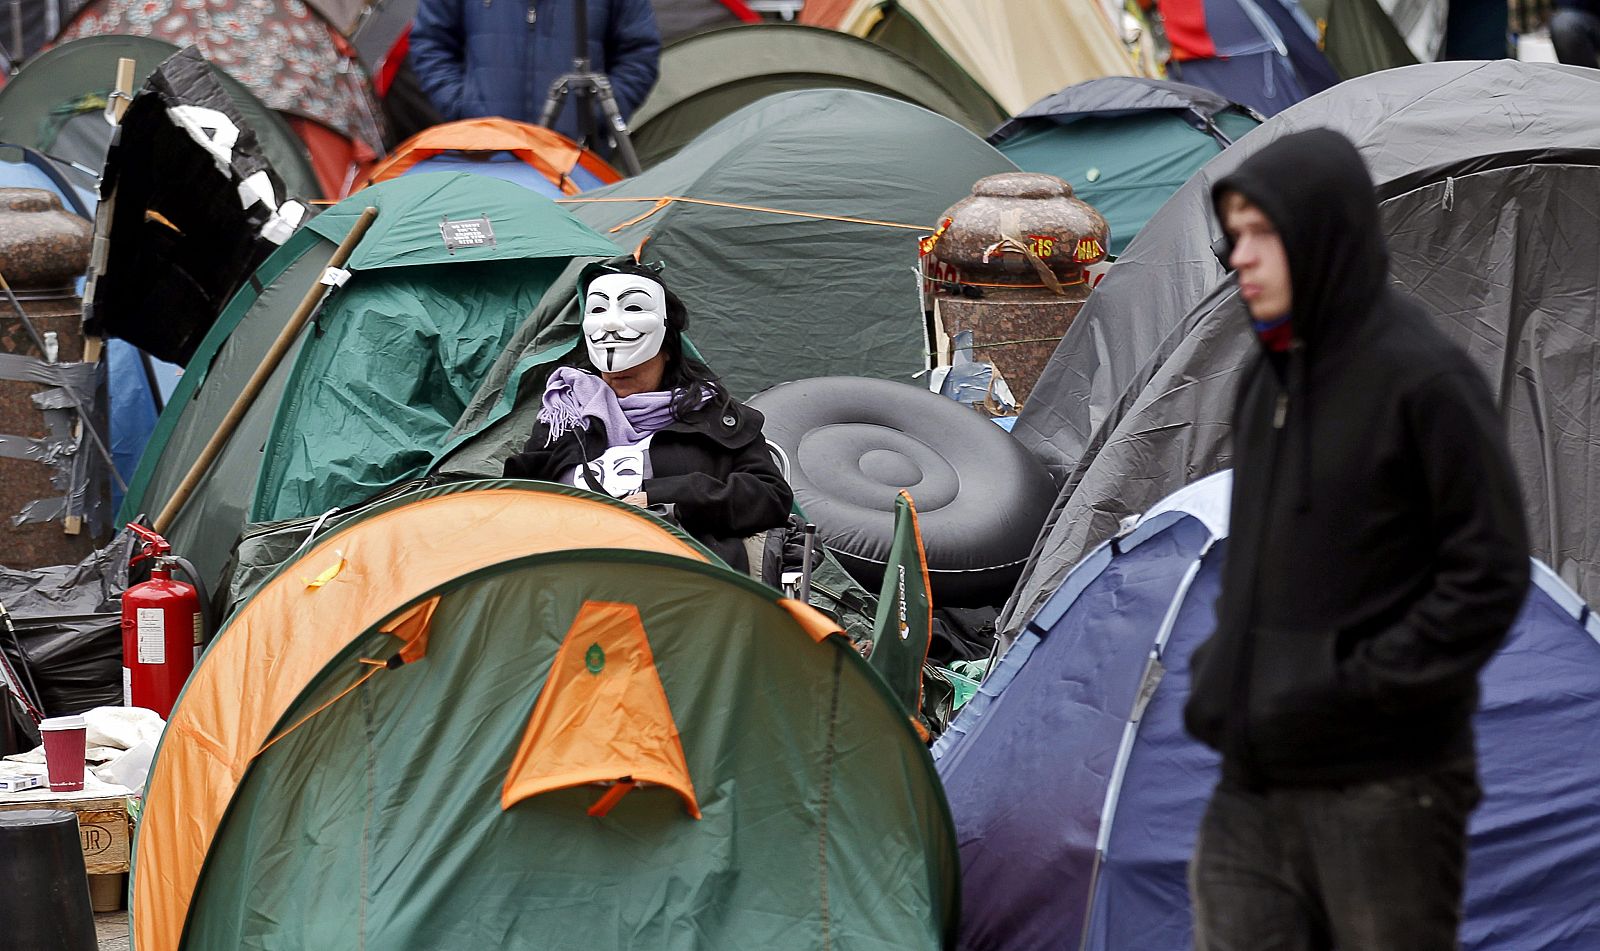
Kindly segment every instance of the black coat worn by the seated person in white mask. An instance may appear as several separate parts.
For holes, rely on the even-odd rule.
[[[744,538],[784,525],[794,504],[762,423],[758,411],[730,402],[669,424],[650,442],[653,477],[643,484],[651,506],[672,504],[685,532],[741,572],[749,570]],[[597,419],[547,447],[549,432],[544,423],[534,426],[528,445],[506,459],[507,477],[560,482],[606,450]]]

